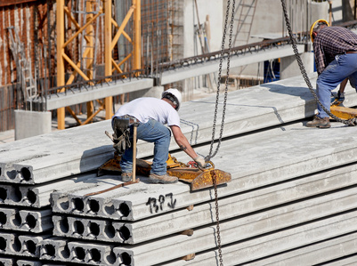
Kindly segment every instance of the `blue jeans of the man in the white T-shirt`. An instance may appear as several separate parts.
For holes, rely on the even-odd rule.
[[[134,125],[130,125],[130,141],[133,143]],[[140,123],[137,127],[137,139],[154,142],[154,159],[150,173],[166,174],[166,160],[170,146],[171,131],[165,126],[150,119],[147,123]],[[133,145],[126,149],[121,157],[120,167],[123,173],[133,172]]]

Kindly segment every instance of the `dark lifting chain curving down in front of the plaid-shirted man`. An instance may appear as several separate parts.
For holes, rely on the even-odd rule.
[[[294,50],[294,53],[295,53],[297,64],[299,65],[301,74],[303,75],[304,81],[305,81],[306,85],[309,87],[309,90],[312,93],[313,98],[315,98],[315,100],[318,102],[320,107],[327,114],[329,114],[330,117],[334,118],[337,122],[341,122],[341,123],[343,123],[345,125],[357,125],[357,121],[356,121],[355,118],[352,118],[352,119],[349,119],[349,120],[344,120],[344,119],[341,119],[341,118],[336,117],[335,115],[331,114],[331,112],[328,109],[326,109],[326,107],[323,106],[323,104],[320,102],[319,98],[317,97],[316,93],[313,91],[310,79],[309,79],[309,77],[307,77],[306,70],[304,69],[304,63],[301,60],[300,54],[299,54],[299,52],[297,50],[296,39],[293,36],[293,32],[292,32],[291,26],[290,26],[290,21],[288,20],[288,11],[287,11],[287,5],[286,5],[285,0],[281,0],[281,5],[282,5],[282,9],[284,11],[285,23],[286,23],[287,28],[288,28],[288,35],[290,36],[290,41],[291,41],[291,44],[293,46],[293,50]]]

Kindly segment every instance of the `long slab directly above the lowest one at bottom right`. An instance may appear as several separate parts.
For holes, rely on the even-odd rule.
[[[288,252],[300,246],[312,244],[319,246],[324,240],[347,236],[347,234],[350,236],[349,240],[353,240],[355,238],[355,225],[353,223],[357,222],[356,219],[357,212],[340,214],[302,226],[280,230],[261,238],[248,239],[230,246],[223,246],[223,263],[224,265],[247,264],[268,256]],[[178,261],[166,263],[166,265],[215,265],[216,262],[217,251],[215,250],[196,254],[194,260],[189,262]]]

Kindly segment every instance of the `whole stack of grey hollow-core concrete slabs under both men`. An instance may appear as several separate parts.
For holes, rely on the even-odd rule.
[[[222,103],[223,96],[218,117]],[[345,105],[357,106],[351,87]],[[183,132],[204,156],[214,109],[215,95],[180,109]],[[217,189],[224,265],[357,263],[357,128],[307,128],[314,109],[301,77],[229,93],[213,158],[232,177]],[[27,221],[0,216],[0,239],[13,244],[0,248],[3,264],[26,261],[31,237],[39,265],[218,265],[214,189],[192,192],[183,182],[139,176],[137,184],[86,196],[121,183],[118,175],[96,176],[113,156],[105,130],[109,121],[0,146],[0,212]],[[151,154],[152,145],[139,141],[138,157]],[[171,154],[190,160],[174,141]]]

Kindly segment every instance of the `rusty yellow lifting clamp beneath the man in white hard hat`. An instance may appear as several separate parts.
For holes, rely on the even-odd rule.
[[[98,169],[98,175],[106,172],[120,173],[120,156],[117,152],[114,153],[114,158],[110,159],[104,165]],[[205,189],[213,187],[214,185],[220,185],[231,181],[231,173],[226,173],[222,170],[215,169],[215,165],[212,162],[207,162],[211,165],[207,168],[196,168],[193,165],[185,165],[178,162],[175,157],[168,155],[166,161],[167,174],[176,176],[180,181],[184,181],[191,184],[191,191],[198,189]],[[136,160],[136,173],[143,176],[150,175],[152,163],[150,161],[137,159]],[[215,183],[214,183],[215,181]]]

